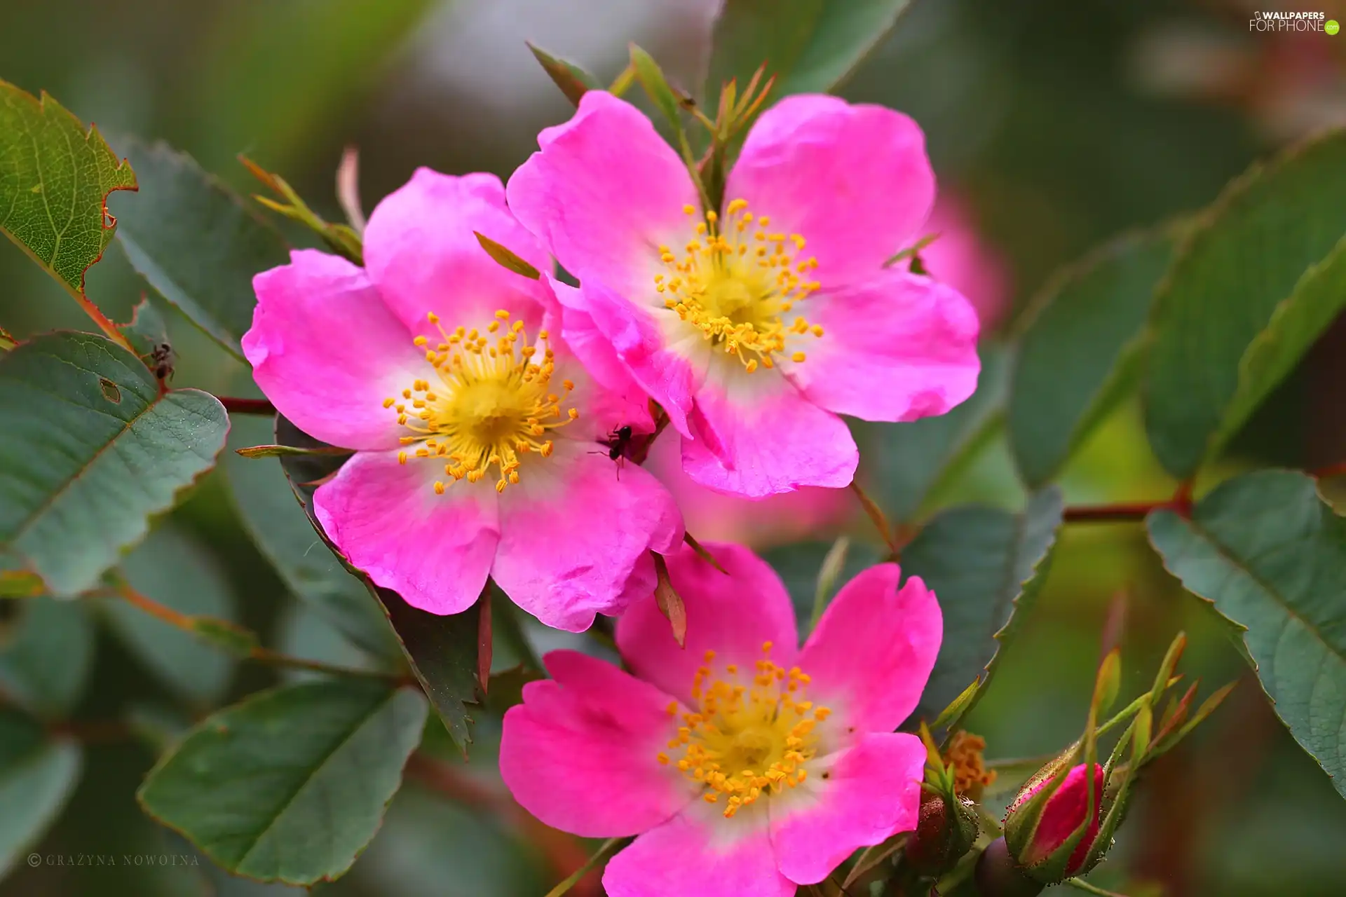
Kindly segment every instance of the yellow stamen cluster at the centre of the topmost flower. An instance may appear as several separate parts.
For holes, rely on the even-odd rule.
[[[695,215],[693,206],[682,211]],[[738,356],[751,374],[775,367],[790,336],[822,336],[822,328],[801,316],[786,323],[794,303],[805,300],[820,284],[806,280],[818,260],[802,258],[804,237],[770,230],[771,219],[748,211],[747,200],[735,199],[724,210],[697,222],[696,235],[682,258],[660,246],[664,272],[654,288],[666,293],[664,305],[701,331],[716,347]],[[790,354],[802,362],[805,354]]]

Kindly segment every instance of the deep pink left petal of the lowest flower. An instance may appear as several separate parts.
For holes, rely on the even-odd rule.
[[[525,810],[561,831],[615,838],[695,799],[696,784],[657,760],[674,726],[666,694],[575,651],[545,662],[553,680],[524,687],[501,734],[501,777]]]

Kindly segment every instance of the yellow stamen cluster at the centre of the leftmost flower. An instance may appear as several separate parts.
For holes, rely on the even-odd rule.
[[[525,455],[548,457],[552,453],[552,430],[576,420],[580,413],[569,409],[561,414],[560,395],[552,391],[556,370],[546,331],[537,335],[542,348],[530,344],[524,321],[509,323],[509,312],[495,312],[495,320],[482,334],[458,327],[446,332],[439,315],[428,320],[439,331],[440,342],[431,348],[425,336],[415,339],[425,350],[425,360],[439,374],[439,382],[415,381],[401,398],[384,399],[384,407],[397,414],[397,422],[412,430],[402,445],[416,445],[415,457],[443,460],[444,475],[456,481],[476,483],[495,468],[495,491],[503,492],[518,483],[518,468]],[[563,381],[565,393],[575,389]],[[405,464],[408,452],[397,453]],[[446,483],[435,481],[443,495]]]

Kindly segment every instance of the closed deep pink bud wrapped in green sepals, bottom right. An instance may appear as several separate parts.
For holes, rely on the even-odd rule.
[[[1004,823],[1005,842],[1015,862],[1028,875],[1044,884],[1057,884],[1085,871],[1085,863],[1098,838],[1104,804],[1102,767],[1079,764],[1065,776],[1061,775],[1059,765],[1053,767],[1055,768],[1049,767],[1051,771],[1047,775],[1039,773],[1019,792],[1010,804]]]

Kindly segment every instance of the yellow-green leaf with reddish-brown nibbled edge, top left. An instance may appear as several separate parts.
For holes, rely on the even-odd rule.
[[[112,241],[108,194],[135,188],[97,128],[0,81],[0,231],[70,292],[83,295],[85,270]]]

